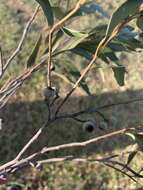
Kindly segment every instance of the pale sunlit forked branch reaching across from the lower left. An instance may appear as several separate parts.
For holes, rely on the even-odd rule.
[[[134,129],[134,128],[130,128],[130,130],[132,130],[132,129]],[[37,157],[39,157],[41,155],[44,155],[45,153],[49,153],[49,152],[53,152],[53,151],[57,151],[57,150],[63,150],[63,149],[66,149],[66,148],[86,147],[87,145],[96,143],[98,141],[108,139],[108,138],[112,138],[112,137],[115,137],[117,135],[124,134],[128,130],[129,129],[121,129],[121,130],[114,131],[114,132],[111,132],[111,133],[108,133],[108,134],[105,134],[105,135],[102,135],[102,136],[99,136],[99,137],[96,137],[96,138],[93,138],[93,139],[90,139],[90,140],[87,140],[87,141],[83,141],[83,142],[73,142],[73,143],[68,143],[68,144],[52,146],[52,147],[44,147],[44,148],[41,149],[41,151],[35,152],[35,153],[31,154],[30,156],[28,156],[26,158],[18,160],[21,157],[21,155],[23,155],[23,153],[27,150],[27,148],[29,148],[31,143],[33,143],[38,138],[37,134],[41,134],[41,132],[38,131],[37,134],[34,135],[32,140],[30,140],[27,143],[27,145],[24,146],[22,151],[20,151],[20,153],[18,154],[18,156],[14,160],[0,166],[0,174],[1,175],[5,174],[6,172],[12,171],[15,167],[20,167],[20,166],[25,165],[25,164],[27,164],[29,162],[32,162]],[[35,137],[37,137],[37,138],[35,138]]]

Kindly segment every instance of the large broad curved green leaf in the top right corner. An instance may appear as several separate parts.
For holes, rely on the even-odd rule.
[[[143,0],[126,0],[112,15],[108,25],[106,36],[110,36],[116,26],[121,24],[126,18],[138,13]]]

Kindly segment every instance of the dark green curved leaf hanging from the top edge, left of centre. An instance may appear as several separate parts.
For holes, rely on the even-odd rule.
[[[53,10],[48,0],[36,0],[43,9],[43,12],[47,18],[49,26],[54,24]]]

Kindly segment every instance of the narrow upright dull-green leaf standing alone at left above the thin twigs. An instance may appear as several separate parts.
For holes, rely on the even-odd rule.
[[[28,60],[27,60],[27,67],[31,67],[32,65],[34,65],[39,49],[40,49],[40,45],[42,42],[42,35],[40,35],[39,39],[36,42],[36,45],[34,47],[34,49],[32,50],[31,55],[29,56]]]

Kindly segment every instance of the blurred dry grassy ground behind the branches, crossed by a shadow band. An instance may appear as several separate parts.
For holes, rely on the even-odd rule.
[[[106,16],[99,12],[88,16],[75,19],[69,26],[77,30],[92,29],[100,24],[107,24],[112,12],[122,3],[123,0],[96,0],[92,1],[99,4]],[[55,0],[56,5],[63,9],[74,7],[76,1]],[[1,0],[0,3],[0,45],[4,51],[6,60],[13,50],[17,47],[22,31],[31,17],[36,7],[34,0]],[[25,68],[25,62],[28,59],[29,51],[35,44],[39,32],[44,35],[48,32],[46,19],[42,12],[32,25],[21,53],[13,60],[12,66],[8,69],[0,85],[17,76]],[[73,63],[79,63],[84,68],[87,61],[77,55],[66,54],[58,59],[58,64],[64,64],[64,60],[70,57]],[[119,87],[109,68],[93,69],[88,74],[87,84],[92,95],[87,94],[82,89],[77,89],[70,101],[64,106],[63,112],[77,111],[91,105],[100,106],[112,102],[120,102],[131,98],[143,97],[143,54],[142,52],[122,53],[120,60],[128,70],[125,86]],[[38,62],[38,61],[37,61]],[[64,71],[63,71],[64,72]],[[110,77],[109,77],[110,76]],[[14,158],[23,145],[44,123],[47,117],[47,107],[43,101],[43,88],[45,86],[46,73],[43,70],[36,73],[30,80],[25,82],[20,90],[11,98],[9,103],[0,111],[0,117],[3,120],[3,129],[0,132],[0,162],[1,164]],[[63,98],[65,92],[71,89],[71,85],[63,82],[58,76],[53,76],[53,81],[60,89],[60,96]],[[65,120],[56,123],[47,129],[44,137],[38,142],[38,145],[31,147],[30,152],[38,150],[44,145],[58,145],[66,142],[83,141],[92,137],[99,136],[114,129],[124,127],[142,126],[143,124],[143,103],[132,103],[112,107],[104,110],[104,114],[111,121],[111,125],[104,131],[98,127],[93,132],[86,131],[82,124]],[[94,119],[97,126],[101,124],[101,118],[97,115],[86,115],[88,119]],[[54,152],[45,157],[57,157],[62,155],[80,155],[92,158],[120,154],[121,159],[126,162],[126,150],[133,148],[132,141],[127,138],[113,138],[91,145],[86,148],[76,150],[65,150],[63,152]],[[28,154],[27,153],[27,154]],[[139,153],[132,163],[132,167],[139,170],[142,167],[142,154]],[[0,189],[7,189],[12,184],[20,184],[23,189],[29,190],[137,190],[142,189],[142,185],[136,184],[129,178],[117,171],[107,168],[100,164],[72,162],[50,164],[44,166],[41,171],[32,168],[19,172],[10,177],[7,186]]]

